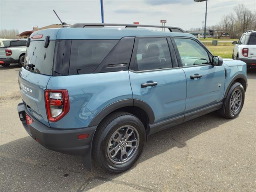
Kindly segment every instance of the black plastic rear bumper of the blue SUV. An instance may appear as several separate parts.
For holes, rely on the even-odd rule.
[[[36,120],[27,110],[26,105],[22,102],[18,104],[18,113],[25,130],[30,136],[37,140],[42,146],[61,153],[82,155],[84,157],[84,166],[91,168],[91,148],[92,138],[97,126],[79,129],[56,129],[49,128]],[[25,113],[32,118],[33,123],[28,125]],[[23,119],[21,118],[21,115]],[[86,139],[78,139],[80,134],[89,134]]]

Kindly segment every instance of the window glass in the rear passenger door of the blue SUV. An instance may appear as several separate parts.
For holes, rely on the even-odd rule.
[[[144,71],[171,68],[170,50],[166,38],[139,38],[133,70]]]

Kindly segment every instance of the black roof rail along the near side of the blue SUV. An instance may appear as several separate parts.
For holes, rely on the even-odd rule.
[[[76,24],[72,25],[71,27],[84,28],[84,27],[104,27],[104,26],[125,26],[126,28],[137,28],[137,27],[168,28],[170,30],[170,32],[186,33],[182,28],[179,28],[179,27],[158,26],[158,25],[113,24],[113,23],[76,23]]]

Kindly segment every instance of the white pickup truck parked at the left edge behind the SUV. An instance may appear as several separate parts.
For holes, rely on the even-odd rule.
[[[0,65],[7,67],[12,63],[18,63],[21,67],[24,63],[26,53],[26,39],[3,41],[0,47]]]

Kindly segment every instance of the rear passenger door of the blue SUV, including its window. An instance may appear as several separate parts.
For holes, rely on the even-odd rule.
[[[165,37],[136,37],[129,68],[130,83],[134,102],[147,103],[154,112],[155,122],[176,116],[181,116],[182,122],[186,77],[178,68],[174,49],[168,41]]]

